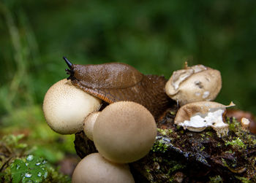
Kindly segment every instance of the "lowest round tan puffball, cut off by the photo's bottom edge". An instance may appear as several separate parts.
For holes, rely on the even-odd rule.
[[[72,183],[132,183],[135,182],[127,164],[112,163],[99,153],[93,153],[78,163]]]

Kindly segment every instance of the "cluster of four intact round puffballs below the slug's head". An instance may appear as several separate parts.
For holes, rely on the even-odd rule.
[[[135,182],[127,163],[144,157],[153,147],[157,125],[151,112],[132,101],[118,101],[101,112],[101,101],[67,79],[45,94],[43,112],[53,131],[84,131],[99,153],[83,158],[72,182]]]

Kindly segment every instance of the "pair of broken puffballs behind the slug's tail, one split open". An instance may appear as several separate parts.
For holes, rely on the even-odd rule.
[[[220,72],[203,65],[185,66],[174,71],[165,85],[165,93],[177,104],[174,120],[176,125],[189,131],[200,132],[207,127],[214,128],[218,136],[225,136],[228,124],[225,123],[225,106],[214,102],[222,87]]]

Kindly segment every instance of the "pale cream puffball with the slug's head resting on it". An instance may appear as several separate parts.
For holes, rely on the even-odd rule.
[[[53,131],[71,134],[83,130],[83,120],[97,111],[101,101],[62,79],[50,87],[42,105],[45,119]]]

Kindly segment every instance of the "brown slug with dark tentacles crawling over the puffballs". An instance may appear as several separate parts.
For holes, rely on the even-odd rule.
[[[135,101],[145,106],[157,119],[170,105],[165,94],[163,76],[144,75],[125,63],[79,65],[64,57],[72,85],[111,104],[116,101]]]

